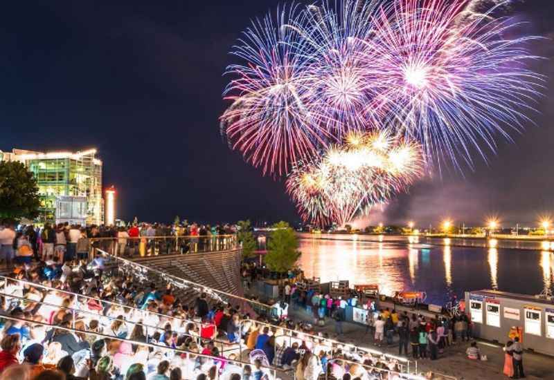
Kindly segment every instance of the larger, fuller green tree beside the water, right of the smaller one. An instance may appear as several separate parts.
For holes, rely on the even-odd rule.
[[[271,232],[267,242],[265,263],[272,271],[287,272],[294,267],[301,255],[298,251],[298,238],[287,222],[278,222],[272,227],[275,230]]]

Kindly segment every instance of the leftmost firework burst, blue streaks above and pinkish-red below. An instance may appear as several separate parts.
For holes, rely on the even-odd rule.
[[[221,117],[222,133],[264,174],[287,173],[291,162],[312,158],[328,137],[308,107],[313,97],[307,59],[298,33],[288,27],[300,22],[296,10],[253,23],[233,52],[247,64],[227,70],[237,78],[225,89],[233,104]]]

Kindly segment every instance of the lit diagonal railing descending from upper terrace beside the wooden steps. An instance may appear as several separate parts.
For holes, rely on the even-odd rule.
[[[218,301],[234,301],[242,307],[251,307],[252,310],[255,311],[257,314],[271,314],[271,305],[266,305],[265,303],[261,303],[259,301],[244,298],[242,296],[237,296],[236,294],[224,292],[223,290],[214,289],[213,287],[208,287],[206,285],[195,283],[193,281],[189,281],[178,276],[173,276],[172,274],[162,272],[159,269],[154,269],[146,265],[135,263],[132,260],[127,260],[126,258],[108,254],[106,251],[102,251],[101,249],[98,249],[98,251],[100,251],[101,254],[105,255],[105,257],[116,261],[118,263],[118,268],[120,270],[123,270],[123,272],[125,272],[125,269],[128,269],[130,273],[138,274],[139,276],[144,276],[145,278],[151,278],[150,276],[153,274],[155,276],[158,276],[158,278],[161,278],[162,281],[170,283],[172,286],[191,288],[194,289],[197,294],[206,293]]]

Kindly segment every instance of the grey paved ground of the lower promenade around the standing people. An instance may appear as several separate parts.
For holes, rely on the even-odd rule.
[[[312,321],[312,316],[305,310],[292,310],[289,313],[293,319]],[[356,323],[343,323],[343,336],[334,333],[334,321],[325,319],[325,326],[315,327],[317,332],[328,332],[330,336],[344,343],[352,343],[361,347],[373,347],[373,337],[364,334],[365,327]],[[422,359],[418,361],[419,372],[438,372],[458,380],[505,380],[508,377],[502,374],[504,364],[504,352],[499,345],[479,341],[479,349],[488,357],[488,361],[472,361],[465,357],[465,350],[469,343],[458,343],[445,348],[445,352],[439,355],[438,360]],[[553,343],[554,344],[554,343]],[[380,348],[391,354],[398,354],[398,345],[393,343],[391,347],[384,345]],[[524,354],[524,370],[527,379],[554,380],[554,357],[541,354]]]

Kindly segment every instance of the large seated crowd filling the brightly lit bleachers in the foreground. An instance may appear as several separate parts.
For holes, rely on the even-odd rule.
[[[305,324],[269,325],[207,294],[179,299],[170,283],[146,283],[100,255],[17,264],[10,278],[0,294],[0,379],[21,368],[28,373],[21,379],[63,372],[66,379],[110,380],[270,380],[269,366],[316,380],[358,368],[350,362],[365,368],[366,380],[371,368],[379,376],[379,369],[399,369],[385,357],[306,334]]]

